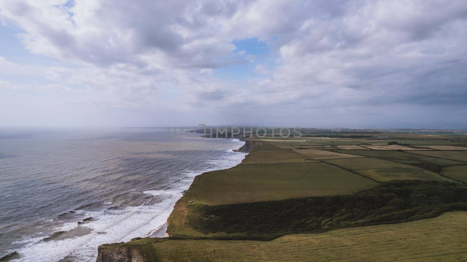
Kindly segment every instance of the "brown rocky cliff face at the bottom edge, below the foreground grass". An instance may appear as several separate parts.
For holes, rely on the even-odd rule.
[[[156,262],[149,243],[104,244],[98,248],[96,262]]]

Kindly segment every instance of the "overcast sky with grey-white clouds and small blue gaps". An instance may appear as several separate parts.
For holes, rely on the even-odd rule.
[[[1,0],[0,126],[467,127],[467,1]]]

